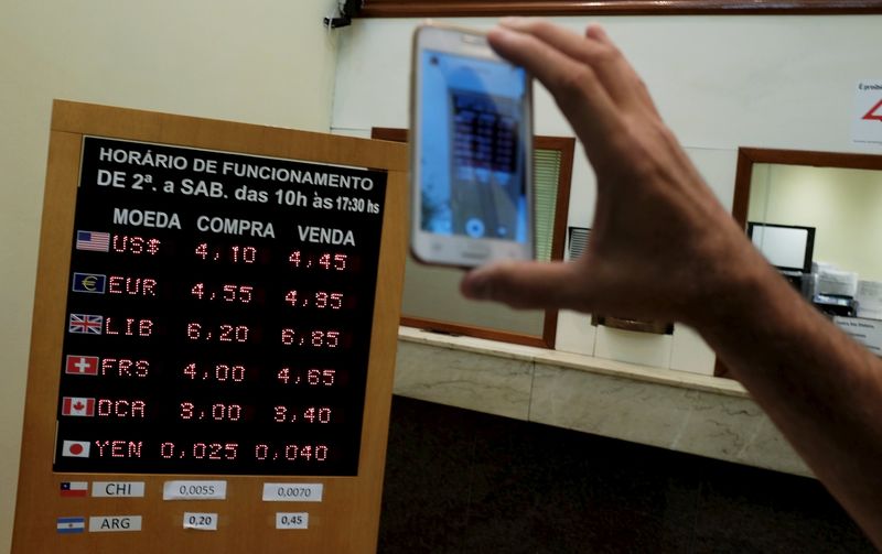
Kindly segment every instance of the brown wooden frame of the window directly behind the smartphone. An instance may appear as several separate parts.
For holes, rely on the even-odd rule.
[[[374,127],[370,130],[372,139],[395,142],[407,142],[407,129],[398,128]],[[570,183],[572,181],[572,161],[576,153],[576,139],[567,137],[534,137],[533,148],[535,150],[545,149],[561,152],[558,195],[555,205],[555,230],[551,240],[551,260],[562,260],[563,249],[567,242],[567,218],[569,213]],[[545,311],[541,336],[405,315],[401,316],[400,322],[401,325],[407,327],[428,328],[442,333],[450,333],[451,335],[464,335],[501,343],[553,349],[558,329],[558,311]]]

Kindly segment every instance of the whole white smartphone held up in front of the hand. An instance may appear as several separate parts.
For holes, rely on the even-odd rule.
[[[534,259],[531,79],[480,31],[413,34],[410,182],[418,261]]]

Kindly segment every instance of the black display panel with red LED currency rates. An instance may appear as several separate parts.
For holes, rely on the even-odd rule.
[[[356,475],[385,191],[84,138],[53,469]]]

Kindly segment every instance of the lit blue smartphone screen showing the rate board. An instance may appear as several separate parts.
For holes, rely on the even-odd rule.
[[[526,72],[431,47],[418,56],[420,230],[528,245]]]

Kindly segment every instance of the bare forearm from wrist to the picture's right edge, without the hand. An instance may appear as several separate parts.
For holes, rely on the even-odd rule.
[[[700,332],[882,547],[882,362],[755,269],[699,317]]]

